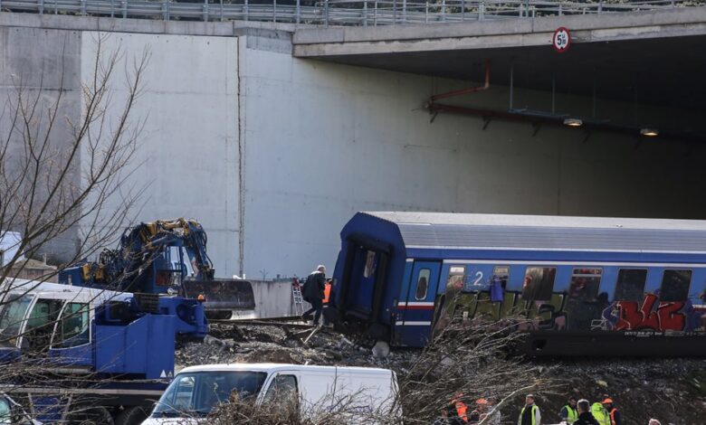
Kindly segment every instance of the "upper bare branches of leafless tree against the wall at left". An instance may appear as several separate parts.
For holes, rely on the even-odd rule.
[[[71,244],[61,247],[59,266],[90,256],[115,237],[143,189],[128,186],[126,179],[137,166],[144,119],[131,111],[148,52],[120,70],[122,52],[103,52],[106,36],[96,37],[91,75],[79,87],[80,105],[65,89],[63,54],[58,88],[44,87],[43,74],[11,76],[14,87],[0,115],[0,237],[14,231],[20,238],[4,259],[0,284],[19,274],[14,266],[23,256],[35,258],[62,238]],[[120,71],[126,73],[124,99],[114,94]]]

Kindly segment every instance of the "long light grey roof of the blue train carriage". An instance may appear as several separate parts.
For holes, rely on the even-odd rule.
[[[371,227],[372,226],[372,227]],[[357,213],[341,236],[395,228],[409,257],[429,250],[706,253],[706,221],[471,213]]]

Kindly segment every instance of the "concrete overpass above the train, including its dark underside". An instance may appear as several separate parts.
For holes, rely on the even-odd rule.
[[[551,48],[559,27],[571,47]],[[454,24],[298,29],[293,53],[388,71],[482,80],[641,104],[703,109],[706,7]],[[524,78],[523,73],[529,78]]]

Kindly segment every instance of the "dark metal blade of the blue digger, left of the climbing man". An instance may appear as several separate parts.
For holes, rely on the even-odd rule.
[[[186,297],[205,297],[206,311],[252,310],[255,295],[250,281],[242,279],[185,280],[182,288]]]

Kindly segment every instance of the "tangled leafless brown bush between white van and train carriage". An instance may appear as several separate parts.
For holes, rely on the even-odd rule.
[[[400,373],[399,403],[405,423],[431,423],[463,402],[470,414],[483,399],[481,423],[495,424],[508,404],[528,392],[551,393],[558,382],[520,354],[527,319],[484,317],[453,320],[439,329],[406,373]],[[521,396],[521,397],[520,397]],[[424,400],[424,402],[419,402]],[[516,419],[516,418],[515,418]]]

